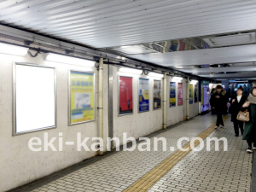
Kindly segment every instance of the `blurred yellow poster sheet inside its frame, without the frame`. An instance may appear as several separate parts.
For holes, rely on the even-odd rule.
[[[70,124],[95,119],[94,73],[70,71]]]

